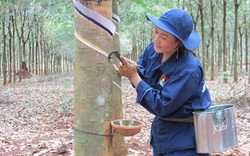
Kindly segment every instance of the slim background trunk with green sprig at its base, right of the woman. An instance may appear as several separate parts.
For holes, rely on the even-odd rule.
[[[227,72],[227,2],[223,0],[223,73]],[[227,83],[227,79],[223,79]]]

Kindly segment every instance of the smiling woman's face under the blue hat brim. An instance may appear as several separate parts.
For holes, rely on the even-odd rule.
[[[155,43],[154,50],[159,54],[173,54],[181,44],[181,42],[177,40],[176,37],[157,27],[155,27],[153,34]]]

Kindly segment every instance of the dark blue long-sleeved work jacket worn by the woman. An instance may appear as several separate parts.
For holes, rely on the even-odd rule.
[[[193,123],[160,118],[186,118],[192,116],[193,111],[205,110],[211,105],[199,60],[184,51],[161,63],[161,54],[154,51],[151,42],[137,64],[143,81],[136,88],[136,101],[157,116],[151,127],[151,145],[160,153],[195,148]],[[160,84],[162,75],[167,80]]]

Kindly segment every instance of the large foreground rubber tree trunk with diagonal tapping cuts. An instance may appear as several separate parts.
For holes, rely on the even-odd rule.
[[[116,136],[110,122],[120,118],[122,111],[118,77],[108,60],[115,32],[112,1],[73,3],[75,155],[113,156]]]

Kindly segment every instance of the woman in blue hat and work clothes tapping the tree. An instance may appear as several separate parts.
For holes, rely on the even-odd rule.
[[[172,9],[159,19],[146,15],[155,25],[154,39],[137,64],[125,57],[115,70],[136,88],[137,103],[155,115],[150,144],[154,156],[195,156],[192,112],[205,110],[211,98],[203,69],[192,50],[200,38],[191,16]]]

